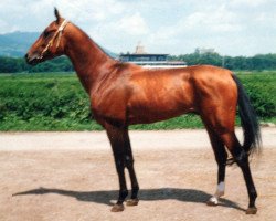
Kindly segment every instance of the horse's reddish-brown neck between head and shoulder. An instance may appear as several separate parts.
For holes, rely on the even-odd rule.
[[[71,59],[74,69],[89,94],[92,87],[115,63],[87,34],[76,27],[67,36],[65,54]],[[72,29],[73,29],[72,28]]]

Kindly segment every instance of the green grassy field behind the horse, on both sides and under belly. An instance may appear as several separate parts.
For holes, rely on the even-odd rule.
[[[263,122],[276,123],[276,71],[237,72]],[[99,130],[89,101],[74,73],[0,74],[0,130]],[[238,124],[238,119],[237,119]],[[183,115],[131,129],[203,127]]]

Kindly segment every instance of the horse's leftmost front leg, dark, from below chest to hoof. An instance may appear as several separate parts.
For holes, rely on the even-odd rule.
[[[126,178],[125,178],[125,148],[124,148],[124,129],[114,125],[106,124],[105,129],[109,138],[115,166],[119,177],[119,197],[112,212],[120,212],[124,210],[124,201],[128,196]]]

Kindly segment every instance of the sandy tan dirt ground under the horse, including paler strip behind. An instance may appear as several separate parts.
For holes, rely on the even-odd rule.
[[[235,166],[226,170],[220,206],[205,204],[216,187],[216,164],[204,130],[130,137],[140,201],[112,213],[118,179],[105,133],[0,133],[0,220],[275,220],[275,128],[263,129],[263,152],[251,164],[256,215],[244,212],[248,198]]]

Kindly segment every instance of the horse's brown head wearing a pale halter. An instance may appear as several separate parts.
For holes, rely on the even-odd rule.
[[[50,23],[25,54],[29,64],[35,65],[64,54],[65,40],[62,35],[68,22],[61,18],[57,9],[54,9],[54,14],[56,20]]]

